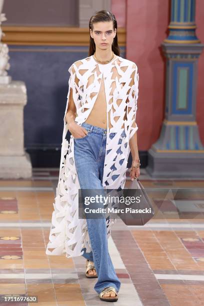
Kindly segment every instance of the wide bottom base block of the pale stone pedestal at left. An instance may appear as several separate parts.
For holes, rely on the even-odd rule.
[[[28,153],[21,156],[0,156],[0,178],[31,178],[32,165]]]

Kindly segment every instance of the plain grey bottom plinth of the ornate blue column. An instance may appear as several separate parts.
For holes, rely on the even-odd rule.
[[[204,178],[204,154],[148,150],[146,172],[152,178]]]

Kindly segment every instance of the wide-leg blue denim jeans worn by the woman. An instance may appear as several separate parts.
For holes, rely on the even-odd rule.
[[[81,126],[84,127],[88,133],[82,138],[73,138],[74,160],[80,188],[101,189],[100,194],[105,196],[102,177],[107,130],[86,122],[83,122]],[[113,137],[114,133],[110,133],[109,135]],[[122,131],[122,135],[125,136],[124,131]],[[120,148],[118,152],[119,150]],[[113,167],[114,165],[112,165],[112,168]],[[112,177],[113,180],[117,176],[118,175],[115,175],[114,178]],[[86,218],[86,221],[92,251],[86,252],[86,248],[83,248],[82,250],[84,250],[84,253],[82,256],[94,262],[95,270],[98,275],[94,289],[97,293],[100,293],[104,288],[112,286],[118,292],[120,281],[115,273],[108,252],[105,218]]]

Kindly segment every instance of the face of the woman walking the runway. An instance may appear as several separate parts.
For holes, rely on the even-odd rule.
[[[116,28],[113,30],[112,21],[95,22],[93,30],[90,29],[90,36],[94,39],[95,47],[99,49],[111,48],[115,35]]]

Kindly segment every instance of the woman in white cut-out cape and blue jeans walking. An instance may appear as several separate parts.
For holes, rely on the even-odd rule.
[[[79,219],[77,194],[79,188],[100,189],[103,195],[105,188],[123,188],[130,151],[130,177],[140,174],[138,71],[134,62],[119,56],[117,22],[111,12],[91,16],[89,31],[89,56],[68,69],[59,181],[46,254],[84,256],[85,275],[97,277],[94,289],[100,299],[116,301],[120,281],[107,244],[115,219]]]

